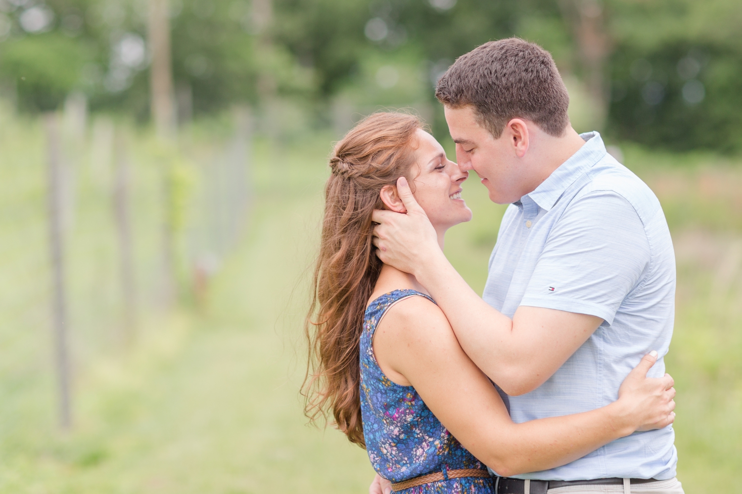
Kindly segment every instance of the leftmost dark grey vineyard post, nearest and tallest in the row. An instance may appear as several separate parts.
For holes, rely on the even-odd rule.
[[[52,270],[52,327],[59,424],[69,429],[72,424],[70,398],[70,356],[68,348],[67,297],[65,293],[65,256],[62,232],[62,150],[56,113],[45,115],[47,133],[47,207]]]

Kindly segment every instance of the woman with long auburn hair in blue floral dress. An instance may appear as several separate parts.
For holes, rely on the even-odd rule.
[[[436,228],[469,221],[467,178],[418,119],[376,113],[330,159],[315,304],[309,313],[307,413],[332,410],[395,492],[493,493],[503,476],[567,464],[603,444],[674,420],[672,378],[646,378],[656,353],[597,410],[513,424],[496,388],[466,356],[416,279],[374,255],[374,209],[404,213],[404,177]],[[485,467],[486,466],[486,467]]]

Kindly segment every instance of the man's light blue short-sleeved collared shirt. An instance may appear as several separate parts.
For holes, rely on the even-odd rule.
[[[600,134],[536,190],[510,204],[490,257],[482,298],[505,316],[521,305],[603,318],[603,324],[536,390],[510,396],[518,423],[580,413],[618,398],[651,350],[665,373],[672,337],[675,258],[660,201],[605,151]],[[671,427],[634,433],[563,467],[519,478],[584,480],[675,476]]]

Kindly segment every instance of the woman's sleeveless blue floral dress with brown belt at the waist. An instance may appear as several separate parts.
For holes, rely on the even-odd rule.
[[[429,473],[485,466],[456,441],[412,386],[395,384],[381,372],[373,353],[378,321],[398,300],[432,298],[395,290],[372,301],[361,333],[361,413],[366,448],[374,470],[392,482]],[[444,477],[447,478],[447,477]],[[490,478],[451,478],[398,491],[404,494],[493,494]]]

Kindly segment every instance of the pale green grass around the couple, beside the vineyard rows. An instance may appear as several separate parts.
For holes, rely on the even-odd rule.
[[[0,493],[366,492],[373,472],[364,450],[335,430],[307,427],[298,394],[307,270],[331,138],[257,142],[246,235],[206,304],[148,313],[131,351],[86,365],[76,380],[72,432],[54,427],[47,365],[24,373],[22,363],[4,367],[0,402],[10,406],[0,407]],[[718,156],[624,151],[663,201],[677,250],[667,364],[678,390],[678,476],[687,493],[735,493],[742,167]],[[481,291],[504,207],[491,204],[476,180],[464,185],[464,198],[474,219],[450,230],[446,251]],[[33,338],[16,336],[6,350],[42,344],[48,330],[39,324]],[[7,330],[2,336],[10,338]]]

